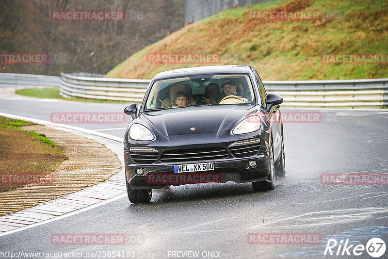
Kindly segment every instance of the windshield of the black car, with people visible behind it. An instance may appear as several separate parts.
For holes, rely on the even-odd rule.
[[[255,94],[248,75],[210,74],[156,81],[146,110],[200,105],[252,104]]]

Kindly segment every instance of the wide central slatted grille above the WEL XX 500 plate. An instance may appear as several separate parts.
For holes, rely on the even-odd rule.
[[[164,151],[161,156],[161,162],[195,162],[225,159],[227,157],[228,154],[222,147],[191,148]]]

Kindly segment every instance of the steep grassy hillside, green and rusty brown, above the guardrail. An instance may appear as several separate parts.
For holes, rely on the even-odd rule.
[[[250,10],[320,10],[318,20],[249,19]],[[323,64],[323,54],[388,53],[387,0],[275,1],[220,12],[133,54],[109,78],[150,79],[203,64],[149,64],[147,53],[220,53],[217,65],[253,65],[263,80],[387,78],[388,65]],[[334,15],[334,16],[333,16]]]

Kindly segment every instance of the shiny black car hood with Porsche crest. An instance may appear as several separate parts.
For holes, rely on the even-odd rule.
[[[195,106],[147,112],[146,117],[165,136],[217,133],[234,127],[253,105]]]

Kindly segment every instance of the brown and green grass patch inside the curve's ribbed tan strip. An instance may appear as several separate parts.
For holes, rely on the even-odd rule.
[[[19,129],[33,123],[0,116],[0,192],[23,186],[10,184],[19,174],[40,179],[53,172],[64,160],[62,151],[45,135]],[[15,178],[14,178],[15,179]]]

